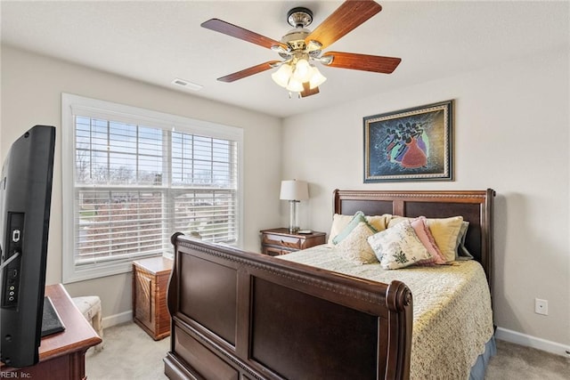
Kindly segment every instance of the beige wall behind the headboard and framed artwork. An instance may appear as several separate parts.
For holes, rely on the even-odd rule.
[[[310,182],[303,226],[329,230],[336,188],[493,188],[496,324],[570,345],[568,68],[568,52],[550,53],[289,117],[282,173]],[[362,117],[450,99],[453,182],[363,184]],[[548,316],[534,298],[549,301]]]

